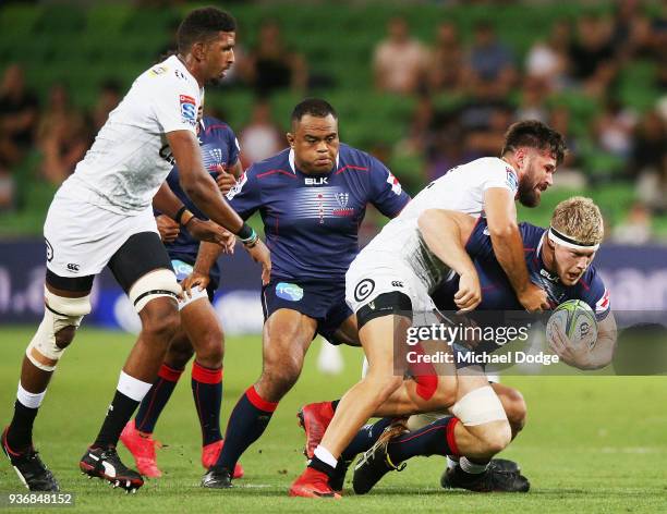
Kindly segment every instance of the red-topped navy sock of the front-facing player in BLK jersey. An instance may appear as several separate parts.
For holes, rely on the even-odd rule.
[[[243,452],[264,433],[277,407],[278,403],[267,402],[251,386],[229,417],[216,466],[233,469]]]

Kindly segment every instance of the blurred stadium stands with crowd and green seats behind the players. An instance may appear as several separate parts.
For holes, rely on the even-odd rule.
[[[667,2],[225,5],[240,25],[237,64],[206,105],[238,133],[245,166],[284,146],[305,95],[329,99],[342,139],[387,162],[413,194],[457,163],[497,155],[513,120],[542,119],[566,134],[570,156],[542,206],[520,218],[547,224],[560,199],[592,196],[607,221],[598,265],[615,308],[665,306]],[[192,7],[0,4],[0,320],[40,316],[39,241],[52,194],[132,81],[173,48]],[[369,212],[364,236],[379,223]],[[242,255],[226,265],[223,291],[237,302],[228,310],[254,313],[230,322],[256,331],[251,265]],[[105,308],[92,321],[124,326],[106,308],[118,290],[106,279],[98,290]]]

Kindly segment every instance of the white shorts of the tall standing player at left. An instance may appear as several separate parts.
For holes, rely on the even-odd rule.
[[[123,216],[58,192],[44,223],[47,268],[65,278],[98,274],[141,232],[158,233],[151,208]]]

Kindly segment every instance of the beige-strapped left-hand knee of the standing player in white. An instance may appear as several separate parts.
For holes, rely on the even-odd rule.
[[[90,295],[66,298],[45,289],[44,319],[25,350],[28,360],[44,371],[53,371],[88,313]]]

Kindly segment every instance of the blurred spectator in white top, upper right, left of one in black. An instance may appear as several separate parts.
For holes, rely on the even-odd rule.
[[[568,46],[571,29],[566,20],[551,26],[549,38],[533,44],[525,58],[525,73],[541,81],[549,90],[562,89],[567,84]]]

